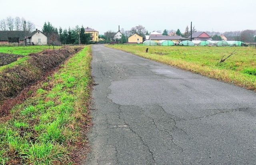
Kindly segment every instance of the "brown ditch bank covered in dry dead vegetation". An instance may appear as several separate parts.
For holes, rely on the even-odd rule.
[[[80,51],[82,47],[64,47],[58,50],[45,50],[32,53],[29,59],[10,69],[0,72],[0,114],[7,112],[4,100],[17,96],[24,88],[39,81],[52,69],[58,67],[70,55]],[[1,106],[2,105],[2,106]]]

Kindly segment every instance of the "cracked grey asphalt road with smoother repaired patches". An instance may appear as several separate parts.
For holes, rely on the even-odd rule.
[[[92,45],[85,165],[256,164],[256,92]]]

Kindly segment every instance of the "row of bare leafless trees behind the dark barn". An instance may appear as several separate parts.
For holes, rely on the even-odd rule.
[[[6,17],[5,19],[0,20],[0,29],[2,31],[13,31],[13,30],[26,30],[30,33],[34,31],[35,25],[33,22],[26,20],[25,18],[20,17]]]

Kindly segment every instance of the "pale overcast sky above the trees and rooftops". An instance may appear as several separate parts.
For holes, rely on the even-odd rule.
[[[118,31],[118,25],[184,32],[190,22],[198,31],[256,29],[256,0],[1,0],[0,6],[0,20],[24,17],[40,30],[44,22],[63,29],[88,26],[100,34]]]

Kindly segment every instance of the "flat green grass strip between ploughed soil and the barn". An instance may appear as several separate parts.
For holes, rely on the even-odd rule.
[[[60,46],[55,46],[55,49],[60,49]],[[0,46],[0,53],[14,54],[14,55],[29,55],[30,53],[38,53],[49,49],[49,46],[46,45],[36,45],[36,46]],[[50,49],[53,49],[50,46]]]

